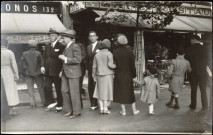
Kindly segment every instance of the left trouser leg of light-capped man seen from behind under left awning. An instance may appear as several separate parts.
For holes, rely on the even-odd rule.
[[[36,105],[35,96],[34,96],[34,78],[33,77],[26,77],[26,84],[29,92],[30,97],[30,104]]]

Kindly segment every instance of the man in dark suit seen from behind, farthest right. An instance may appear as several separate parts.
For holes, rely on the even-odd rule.
[[[189,81],[191,84],[191,104],[190,109],[196,109],[197,107],[197,88],[200,87],[202,110],[208,109],[208,100],[206,94],[207,88],[207,50],[201,43],[201,38],[198,35],[191,36],[191,46],[189,52],[186,55],[186,59],[189,60],[192,68],[191,74],[189,74]]]

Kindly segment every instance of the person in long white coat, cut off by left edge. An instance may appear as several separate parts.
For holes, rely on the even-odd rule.
[[[7,40],[1,40],[1,76],[5,86],[5,92],[10,114],[16,115],[13,107],[19,104],[19,96],[16,81],[19,79],[18,67],[14,53],[7,49]]]

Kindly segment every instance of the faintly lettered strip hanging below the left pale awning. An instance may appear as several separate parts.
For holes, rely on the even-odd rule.
[[[39,43],[46,43],[49,41],[49,36],[48,34],[13,34],[7,36],[9,44],[27,44],[32,39]]]

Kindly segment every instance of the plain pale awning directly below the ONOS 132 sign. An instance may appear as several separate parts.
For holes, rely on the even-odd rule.
[[[1,33],[48,33],[66,28],[56,14],[1,13]]]

